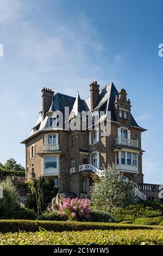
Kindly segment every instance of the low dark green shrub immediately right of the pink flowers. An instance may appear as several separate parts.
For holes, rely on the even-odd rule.
[[[93,222],[114,222],[114,218],[108,212],[91,210],[91,221]]]

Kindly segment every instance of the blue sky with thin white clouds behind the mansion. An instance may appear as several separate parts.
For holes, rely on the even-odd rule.
[[[145,182],[163,183],[162,1],[0,0],[0,162],[25,164],[41,89],[83,99],[89,84],[125,88],[142,133]]]

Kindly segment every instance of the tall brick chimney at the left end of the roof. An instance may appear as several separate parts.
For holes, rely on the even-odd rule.
[[[46,117],[46,113],[49,111],[49,108],[52,104],[52,98],[54,95],[54,92],[52,89],[43,88],[41,90],[42,92],[42,117],[43,119]]]

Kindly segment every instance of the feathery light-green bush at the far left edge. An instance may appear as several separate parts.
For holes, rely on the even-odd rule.
[[[0,199],[0,217],[11,217],[11,212],[20,208],[18,194],[12,180],[7,178],[0,182],[3,187],[3,198]]]

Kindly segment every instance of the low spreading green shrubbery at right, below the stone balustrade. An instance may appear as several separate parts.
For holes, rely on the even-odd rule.
[[[149,200],[128,205],[126,208],[116,208],[112,215],[116,222],[136,220],[140,217],[159,217],[162,216],[163,203]],[[132,223],[133,221],[130,221]]]

